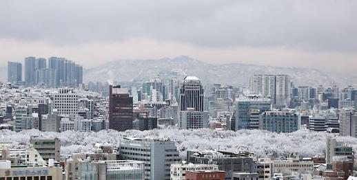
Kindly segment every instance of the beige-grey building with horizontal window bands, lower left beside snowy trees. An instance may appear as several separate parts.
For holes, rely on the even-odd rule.
[[[59,138],[31,137],[30,143],[45,161],[48,161],[48,159],[60,160],[61,140]]]

